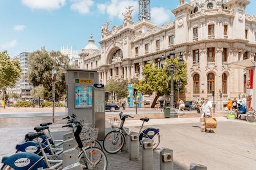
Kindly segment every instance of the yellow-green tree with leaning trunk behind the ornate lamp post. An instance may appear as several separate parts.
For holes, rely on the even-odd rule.
[[[173,62],[178,66],[178,58],[175,58]],[[170,64],[169,59],[166,59],[166,64]],[[164,65],[163,68],[157,68],[156,64],[150,62],[143,67],[142,75],[143,79],[140,80],[139,83],[135,84],[134,88],[137,88],[138,92],[141,92],[142,94],[152,95],[156,92],[156,97],[151,105],[151,107],[154,108],[159,96],[170,93],[170,74],[166,70],[166,65]],[[180,91],[183,92],[183,87],[187,84],[185,62],[181,68],[175,69],[174,89],[176,89],[177,80],[182,82]]]

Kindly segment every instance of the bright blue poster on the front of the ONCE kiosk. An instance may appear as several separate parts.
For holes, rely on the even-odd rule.
[[[75,108],[92,107],[92,86],[75,86]]]

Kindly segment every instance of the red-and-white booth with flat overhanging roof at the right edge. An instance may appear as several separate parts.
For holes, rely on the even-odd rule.
[[[254,75],[256,75],[256,62],[252,59],[242,60],[242,61],[236,61],[228,64],[229,68],[237,68],[237,69],[246,69],[246,107],[247,110],[249,110],[250,107],[253,107],[253,109],[256,108],[255,103],[255,96],[256,96],[256,90],[255,90],[255,83],[256,80],[254,78]]]

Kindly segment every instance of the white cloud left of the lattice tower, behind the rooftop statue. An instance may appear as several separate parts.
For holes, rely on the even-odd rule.
[[[134,6],[133,9],[137,11],[138,2],[133,0],[111,0],[111,3],[98,4],[98,11],[101,13],[106,13],[110,18],[118,17],[123,19],[122,13],[125,12],[125,7]],[[133,16],[135,12],[133,12]]]

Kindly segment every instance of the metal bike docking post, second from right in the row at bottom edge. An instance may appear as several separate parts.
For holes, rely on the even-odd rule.
[[[173,170],[173,160],[173,150],[168,148],[160,148],[160,170]]]

